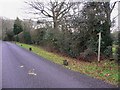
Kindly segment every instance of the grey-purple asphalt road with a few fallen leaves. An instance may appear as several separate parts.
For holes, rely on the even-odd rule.
[[[10,42],[2,43],[2,88],[112,88]]]

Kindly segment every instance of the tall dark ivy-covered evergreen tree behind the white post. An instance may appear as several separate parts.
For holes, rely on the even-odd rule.
[[[112,45],[110,10],[109,2],[88,2],[83,8],[85,23],[89,31],[89,43],[97,50],[97,33],[102,32],[102,52]]]

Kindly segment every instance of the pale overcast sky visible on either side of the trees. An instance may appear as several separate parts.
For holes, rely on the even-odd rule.
[[[0,16],[10,19],[15,19],[16,17],[19,17],[20,19],[30,18],[27,14],[25,14],[27,5],[24,3],[24,1],[25,0],[0,0]],[[116,0],[111,1],[114,2]],[[112,13],[112,17],[115,17],[117,14],[118,7],[116,5]]]

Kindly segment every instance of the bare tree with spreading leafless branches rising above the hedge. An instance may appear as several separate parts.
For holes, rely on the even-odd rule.
[[[34,14],[43,14],[47,18],[52,18],[54,24],[54,30],[58,30],[59,23],[62,18],[69,12],[70,8],[73,6],[70,2],[65,1],[50,1],[48,5],[37,1],[27,1],[26,2],[32,9],[35,10]]]

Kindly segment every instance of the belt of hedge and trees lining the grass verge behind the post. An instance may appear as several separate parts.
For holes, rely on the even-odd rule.
[[[55,0],[46,4],[39,1],[26,3],[34,10],[32,13],[44,16],[46,20],[38,20],[34,30],[31,30],[31,24],[23,21],[23,32],[19,33],[19,37],[24,38],[22,42],[32,41],[74,58],[94,57],[98,50],[97,34],[101,32],[101,53],[111,56],[110,14],[116,3],[112,7],[109,2]],[[86,59],[93,59],[89,57]]]

